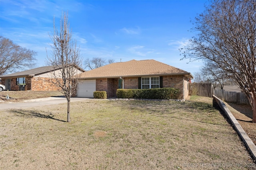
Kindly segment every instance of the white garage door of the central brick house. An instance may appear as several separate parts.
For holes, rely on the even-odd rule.
[[[96,91],[96,80],[83,80],[78,84],[78,98],[93,98],[93,92]]]

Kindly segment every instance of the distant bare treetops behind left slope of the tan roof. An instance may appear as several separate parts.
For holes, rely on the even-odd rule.
[[[114,63],[113,59],[108,59],[108,61],[106,61],[105,59],[100,57],[94,57],[92,59],[86,59],[84,61],[85,68],[89,68],[90,70],[104,66],[106,64],[111,64],[111,63]]]

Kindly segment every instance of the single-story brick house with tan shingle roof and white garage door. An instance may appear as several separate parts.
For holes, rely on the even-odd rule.
[[[178,88],[181,99],[188,96],[188,83],[193,76],[179,68],[155,60],[131,60],[112,63],[83,72],[77,97],[93,97],[94,91],[106,91],[108,98],[116,97],[118,88]]]

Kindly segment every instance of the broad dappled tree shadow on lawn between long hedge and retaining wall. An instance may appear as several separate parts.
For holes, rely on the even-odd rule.
[[[170,117],[182,121],[224,125],[213,118],[219,108],[204,102],[169,102],[169,101],[122,101],[119,106],[127,110],[137,110],[145,114],[154,114],[157,117]]]

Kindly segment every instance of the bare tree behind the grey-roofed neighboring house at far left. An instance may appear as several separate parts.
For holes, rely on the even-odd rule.
[[[33,68],[35,55],[36,52],[20,47],[12,40],[0,36],[0,75]]]

